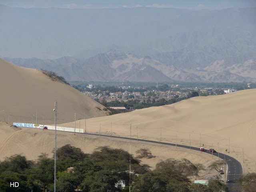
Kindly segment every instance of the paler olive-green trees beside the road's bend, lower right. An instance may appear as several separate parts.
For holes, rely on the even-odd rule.
[[[187,159],[167,159],[156,164],[156,169],[138,176],[132,192],[219,192],[227,191],[227,186],[218,178],[209,180],[208,185],[193,184],[189,176],[199,176],[204,170],[202,164],[192,164]]]

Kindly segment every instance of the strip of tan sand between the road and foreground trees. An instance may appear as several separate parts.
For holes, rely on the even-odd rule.
[[[15,128],[9,126],[6,123],[0,122],[0,160],[4,160],[5,157],[12,156],[14,154],[22,154],[29,160],[36,160],[41,153],[49,154],[49,157],[53,156],[52,150],[54,149],[54,131],[53,130],[40,130],[33,128]],[[91,153],[98,146],[110,146],[112,148],[122,148],[129,152],[130,140],[106,138],[102,136],[91,136],[85,134],[68,132],[57,132],[57,147],[64,146],[65,144],[71,144],[72,146],[81,148],[85,153]],[[162,146],[160,144],[149,144],[146,142],[132,141],[131,152],[136,156],[136,150],[140,148],[150,148],[155,158],[145,159],[142,158],[142,164],[148,164],[155,168],[156,163],[160,160],[166,160],[167,158],[182,159],[186,158],[193,163],[202,163],[204,166],[208,166],[212,161],[217,158],[197,152],[193,150],[187,150],[183,148],[175,148],[174,146]],[[216,174],[214,172],[206,170],[200,173],[200,176]]]

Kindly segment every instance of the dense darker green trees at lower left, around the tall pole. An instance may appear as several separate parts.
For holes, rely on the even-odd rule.
[[[122,149],[108,146],[98,147],[92,154],[84,154],[80,148],[62,146],[57,152],[57,192],[72,192],[81,189],[84,192],[120,192],[115,187],[119,180],[129,182],[130,154]],[[150,166],[140,164],[138,158],[131,155],[131,168],[144,174]],[[67,168],[74,167],[68,173]],[[0,191],[12,192],[10,182],[19,182],[19,192],[45,192],[54,190],[54,159],[47,154],[30,161],[25,156],[15,155],[0,162]]]

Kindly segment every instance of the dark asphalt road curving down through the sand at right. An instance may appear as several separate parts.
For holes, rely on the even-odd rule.
[[[82,133],[82,134],[97,136],[96,134],[92,134],[92,133]],[[101,135],[101,136],[130,140],[130,138],[127,138],[127,137],[119,137],[119,136],[111,136],[111,135]],[[131,140],[137,140],[137,139],[131,138]],[[176,146],[176,144],[173,144],[173,143],[165,143],[165,142],[159,142],[159,141],[151,141],[151,140],[143,140],[143,139],[138,139],[138,141]],[[180,145],[180,144],[177,144],[177,147],[183,147],[183,148],[190,149],[190,146]],[[200,148],[198,148],[198,147],[191,147],[191,149],[200,151]],[[208,154],[212,155],[212,152],[209,152],[208,150],[205,151],[204,153],[208,153]],[[213,155],[218,157],[218,152],[213,153]],[[224,175],[226,175],[226,184],[228,186],[228,189],[230,190],[230,192],[232,192],[238,187],[236,180],[238,180],[238,178],[240,178],[240,176],[242,176],[242,174],[243,174],[242,165],[235,158],[225,155],[223,153],[219,153],[219,158],[225,160],[228,165],[228,168]]]

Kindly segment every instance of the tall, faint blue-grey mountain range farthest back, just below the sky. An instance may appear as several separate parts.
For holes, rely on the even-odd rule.
[[[7,19],[8,18],[8,19]],[[0,57],[90,58],[120,50],[179,68],[256,59],[256,8],[13,8],[0,5]]]

